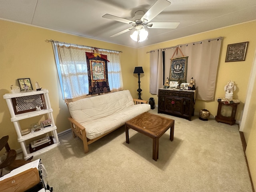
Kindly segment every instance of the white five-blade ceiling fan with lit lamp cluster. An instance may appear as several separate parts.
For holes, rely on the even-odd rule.
[[[170,4],[171,2],[167,0],[156,0],[156,2],[149,8],[149,10],[146,13],[144,13],[144,11],[142,10],[136,11],[135,16],[132,18],[132,20],[120,18],[110,14],[105,14],[102,17],[132,25],[131,28],[118,32],[110,37],[115,37],[135,29],[134,33],[130,35],[130,37],[134,41],[142,42],[146,40],[148,37],[148,31],[145,30],[145,27],[165,29],[175,29],[178,27],[180,22],[150,22],[154,17],[160,14],[160,12],[162,12]]]

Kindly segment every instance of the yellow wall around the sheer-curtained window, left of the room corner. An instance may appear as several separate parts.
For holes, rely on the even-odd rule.
[[[134,98],[137,97],[138,78],[133,74],[134,67],[137,66],[137,50],[134,48],[5,20],[0,20],[0,38],[0,137],[9,135],[8,143],[12,149],[19,149],[20,144],[17,142],[17,135],[10,121],[10,112],[3,95],[10,92],[10,85],[18,86],[18,78],[30,78],[34,89],[36,81],[42,88],[48,89],[57,132],[70,128],[67,120],[69,113],[62,100],[52,44],[45,42],[46,39],[122,50],[124,89],[130,90]],[[20,124],[26,128],[41,119],[30,118],[22,120]]]

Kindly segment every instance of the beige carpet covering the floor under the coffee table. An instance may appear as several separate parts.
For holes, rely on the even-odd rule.
[[[150,110],[157,114],[157,109]],[[238,125],[213,119],[175,120],[174,141],[168,130],[152,159],[152,139],[124,126],[89,145],[71,133],[61,145],[36,156],[55,192],[252,192]]]

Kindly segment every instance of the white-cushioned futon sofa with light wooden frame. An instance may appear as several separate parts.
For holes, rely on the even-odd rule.
[[[149,111],[150,105],[145,100],[133,99],[129,90],[122,90],[70,102],[68,109],[73,137],[82,139],[87,153],[88,144]]]

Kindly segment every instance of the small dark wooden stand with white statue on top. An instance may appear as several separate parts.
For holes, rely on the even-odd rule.
[[[236,123],[236,109],[240,101],[233,99],[234,91],[236,90],[235,83],[230,80],[225,86],[225,98],[218,98],[218,111],[215,116],[217,122],[228,123],[233,125]]]

